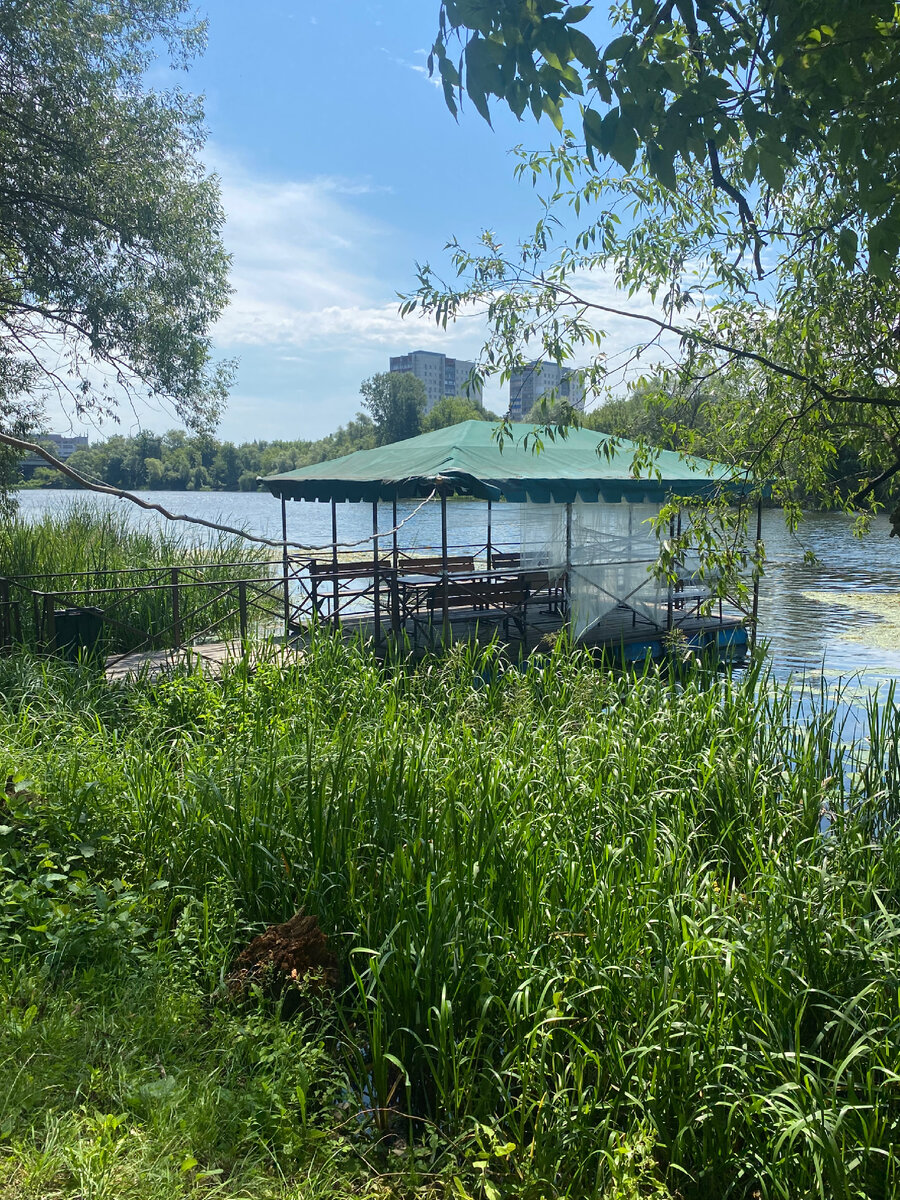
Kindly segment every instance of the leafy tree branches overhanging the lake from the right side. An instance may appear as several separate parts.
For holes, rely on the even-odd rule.
[[[425,265],[404,311],[445,323],[480,304],[488,373],[535,342],[558,362],[588,350],[598,396],[666,355],[656,418],[679,448],[774,480],[788,508],[871,509],[900,479],[900,126],[881,127],[900,115],[894,6],[631,0],[606,47],[578,28],[588,13],[443,5],[433,62],[451,107],[463,92],[485,116],[490,97],[528,104],[562,137],[520,151],[546,188],[530,235],[512,253],[491,234],[454,244],[452,282]],[[623,317],[634,350],[616,362],[605,325]],[[685,428],[678,406],[710,391],[727,402]]]

